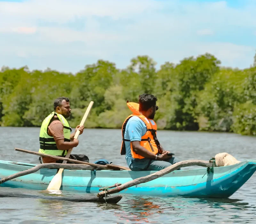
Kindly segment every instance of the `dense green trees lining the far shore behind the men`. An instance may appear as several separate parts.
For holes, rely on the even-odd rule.
[[[141,93],[157,96],[159,129],[204,130],[256,135],[256,67],[221,68],[211,54],[166,62],[159,70],[148,56],[126,69],[99,60],[76,75],[27,67],[0,72],[1,126],[40,126],[53,100],[70,98],[70,124],[80,123],[91,100],[86,127],[121,128],[130,114],[126,101]]]

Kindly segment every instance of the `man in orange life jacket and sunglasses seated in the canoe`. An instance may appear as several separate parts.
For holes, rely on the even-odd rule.
[[[162,170],[180,162],[173,156],[168,156],[156,138],[157,126],[154,116],[158,107],[157,98],[151,94],[141,94],[139,104],[127,101],[127,106],[133,112],[128,116],[122,127],[121,155],[133,171]]]

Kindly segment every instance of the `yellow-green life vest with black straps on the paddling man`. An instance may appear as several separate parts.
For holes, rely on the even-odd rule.
[[[56,142],[54,138],[50,135],[48,135],[48,126],[50,124],[50,121],[54,115],[57,115],[60,122],[63,124],[63,133],[64,133],[64,141],[70,141],[70,133],[71,133],[71,127],[69,127],[68,121],[64,116],[61,114],[57,114],[55,112],[52,112],[49,114],[43,121],[41,129],[40,129],[40,135],[39,135],[39,142],[40,142],[40,153],[52,155],[52,156],[65,156],[67,155],[67,150],[59,150],[57,148]]]

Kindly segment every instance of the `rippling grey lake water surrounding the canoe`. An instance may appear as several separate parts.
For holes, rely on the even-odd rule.
[[[0,127],[0,159],[39,164],[38,156],[14,151],[14,147],[38,151],[39,131],[39,128]],[[209,160],[220,152],[240,161],[256,159],[255,137],[158,131],[158,138],[180,160]],[[120,130],[85,129],[73,153],[86,154],[90,162],[105,158],[127,166],[124,156],[120,156],[120,144]],[[19,188],[0,188],[0,191],[40,195],[38,191]],[[228,199],[123,194],[118,204],[98,204],[6,197],[0,198],[0,223],[256,223],[255,193],[256,174]],[[62,194],[72,196],[70,192]]]

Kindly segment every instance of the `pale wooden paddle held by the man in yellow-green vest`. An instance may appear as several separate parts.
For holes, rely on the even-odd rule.
[[[84,125],[84,122],[85,122],[85,120],[86,120],[86,118],[87,118],[87,116],[88,116],[88,114],[89,114],[89,112],[90,112],[90,110],[92,108],[93,103],[94,102],[91,101],[89,106],[88,106],[88,108],[86,109],[86,111],[84,113],[84,116],[83,116],[83,119],[82,119],[82,121],[80,123],[80,126]],[[78,139],[79,134],[80,134],[80,131],[79,131],[79,129],[77,129],[74,139]],[[70,154],[72,152],[72,149],[73,148],[68,150],[68,153],[65,156],[66,158],[69,158],[69,156],[70,156]],[[67,163],[67,161],[63,161],[62,163],[65,164],[65,163]],[[57,172],[57,174],[52,178],[52,181],[50,182],[47,190],[59,190],[60,189],[61,182],[62,182],[62,172],[63,172],[63,170],[64,170],[63,168],[60,168],[59,172]]]

